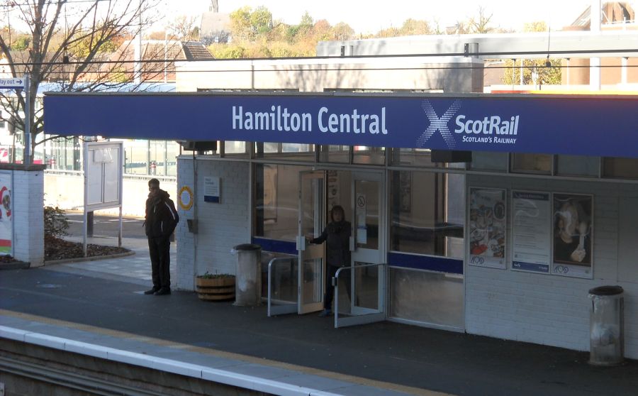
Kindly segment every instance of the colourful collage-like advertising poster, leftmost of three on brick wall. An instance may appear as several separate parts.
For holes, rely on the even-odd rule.
[[[469,264],[505,268],[505,190],[470,188]]]

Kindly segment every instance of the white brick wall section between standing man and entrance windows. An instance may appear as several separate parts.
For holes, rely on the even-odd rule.
[[[235,274],[237,257],[230,253],[233,246],[250,243],[250,164],[218,161],[197,161],[197,185],[194,185],[193,160],[179,158],[177,190],[190,187],[196,195],[196,207],[184,211],[175,204],[180,221],[177,226],[177,287],[194,290],[194,275],[206,273]],[[203,180],[206,176],[220,178],[220,203],[204,202]],[[198,233],[188,230],[186,219],[198,219]]]

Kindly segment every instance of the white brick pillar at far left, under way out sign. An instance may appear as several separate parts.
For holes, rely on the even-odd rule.
[[[44,264],[44,171],[12,172],[13,257],[39,267]]]

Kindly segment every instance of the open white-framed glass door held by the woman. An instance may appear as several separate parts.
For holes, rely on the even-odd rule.
[[[323,309],[325,249],[306,240],[319,236],[325,226],[325,172],[301,172],[299,177],[297,312],[306,314]]]

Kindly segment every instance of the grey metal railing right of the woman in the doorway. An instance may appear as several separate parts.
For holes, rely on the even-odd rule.
[[[350,292],[350,307],[351,312],[348,317],[339,317],[339,275],[342,271],[352,271],[360,270],[362,268],[379,268],[378,277],[377,277],[377,290],[379,291],[379,295],[377,296],[377,309],[369,309],[369,308],[360,308],[355,309],[356,304],[353,304],[352,301],[356,301],[356,292],[357,287]],[[382,321],[385,319],[384,313],[384,304],[385,304],[385,274],[386,274],[386,263],[376,263],[376,264],[363,264],[363,265],[354,265],[352,267],[342,267],[337,270],[335,273],[335,277],[332,279],[332,285],[335,287],[335,329],[337,327],[343,326],[352,326],[355,324],[366,324],[372,323],[374,321]],[[352,279],[352,273],[350,274],[350,279]],[[356,275],[356,274],[354,274]],[[356,282],[356,278],[355,278]],[[380,285],[379,285],[380,283]],[[346,287],[351,287],[351,285],[345,285]],[[356,286],[356,285],[355,285]]]

